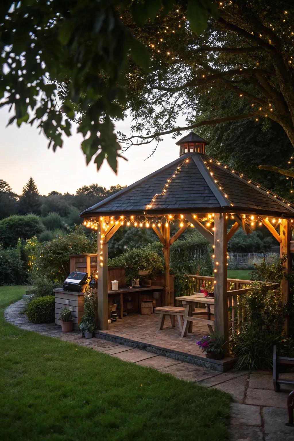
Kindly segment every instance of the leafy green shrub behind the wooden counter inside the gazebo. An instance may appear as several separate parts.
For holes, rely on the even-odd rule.
[[[162,274],[164,271],[163,258],[160,258],[151,245],[133,248],[113,259],[109,259],[108,266],[111,268],[116,266],[125,268],[127,283],[137,279],[139,271],[147,271],[145,278],[152,280],[155,279],[156,274]]]

